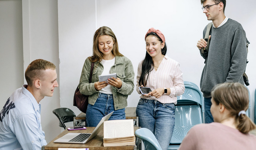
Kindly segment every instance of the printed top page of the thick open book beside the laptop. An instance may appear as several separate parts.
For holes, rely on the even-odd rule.
[[[133,120],[109,120],[104,122],[104,138],[134,136]]]

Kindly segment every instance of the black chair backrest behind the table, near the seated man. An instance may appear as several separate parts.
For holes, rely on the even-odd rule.
[[[69,108],[57,108],[53,110],[53,114],[59,119],[59,126],[66,129],[64,123],[71,122],[76,117],[75,113]]]

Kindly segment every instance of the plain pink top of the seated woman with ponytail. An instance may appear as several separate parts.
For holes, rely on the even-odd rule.
[[[253,150],[256,137],[220,123],[192,127],[179,150]]]

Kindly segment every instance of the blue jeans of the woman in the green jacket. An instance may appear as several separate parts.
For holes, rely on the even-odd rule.
[[[96,127],[101,119],[113,112],[109,120],[125,119],[125,108],[115,110],[113,94],[100,93],[94,105],[88,104],[86,110],[86,126]]]

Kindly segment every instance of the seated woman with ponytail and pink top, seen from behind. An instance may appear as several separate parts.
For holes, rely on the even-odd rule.
[[[241,83],[223,83],[211,95],[214,123],[191,128],[179,150],[256,149],[256,137],[249,134],[256,126],[245,112],[249,106],[246,87]]]

